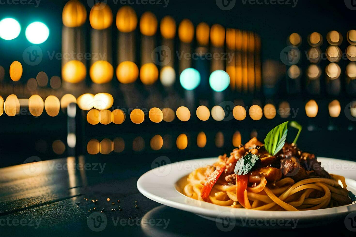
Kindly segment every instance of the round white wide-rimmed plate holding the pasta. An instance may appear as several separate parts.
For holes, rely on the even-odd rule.
[[[190,172],[199,167],[211,165],[216,160],[216,157],[202,158],[169,163],[157,167],[146,172],[138,179],[137,189],[147,198],[171,206],[172,208],[193,212],[217,222],[232,218],[235,220],[235,225],[244,226],[251,226],[253,221],[259,221],[258,223],[262,223],[260,226],[257,222],[255,222],[253,226],[265,228],[268,226],[272,227],[273,225],[269,224],[275,221],[281,221],[280,223],[284,221],[284,224],[281,226],[279,224],[273,226],[273,228],[284,228],[289,219],[298,220],[298,227],[300,227],[300,225],[305,227],[308,223],[315,226],[331,222],[341,217],[345,218],[348,213],[356,211],[356,203],[311,211],[259,211],[237,209],[195,200],[178,192],[177,182],[182,177],[187,176]],[[356,193],[356,162],[332,158],[318,158],[318,161],[321,162],[321,166],[329,173],[345,176],[346,184],[348,185],[347,188],[351,190],[351,192]],[[253,219],[253,221],[250,222],[250,219]],[[246,220],[248,221],[246,222]],[[271,220],[273,220],[273,222],[271,222]],[[313,220],[313,222],[310,223],[310,220]]]

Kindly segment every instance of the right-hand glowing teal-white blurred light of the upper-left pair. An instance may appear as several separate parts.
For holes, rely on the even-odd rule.
[[[27,26],[25,34],[32,44],[41,44],[47,40],[49,29],[42,22],[36,21]]]

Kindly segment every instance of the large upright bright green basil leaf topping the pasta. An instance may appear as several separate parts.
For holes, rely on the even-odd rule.
[[[265,138],[265,149],[270,155],[276,155],[284,146],[287,138],[288,122],[289,121],[279,124],[267,134]]]

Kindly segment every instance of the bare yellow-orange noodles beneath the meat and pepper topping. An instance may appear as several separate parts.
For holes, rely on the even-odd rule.
[[[199,168],[187,177],[188,183],[183,187],[183,194],[197,200],[201,198],[201,188],[205,182],[208,167]],[[254,180],[255,179],[255,180]],[[344,183],[341,188],[338,181]],[[256,177],[249,181],[256,181]],[[255,187],[245,190],[245,206],[252,210],[286,210],[302,211],[330,207],[331,200],[342,201],[347,195],[345,178],[333,175],[329,178],[308,178],[294,182],[291,178],[282,178],[268,183],[264,177]],[[220,206],[244,208],[238,203],[236,185],[215,184],[209,194],[209,201]],[[322,193],[320,197],[311,197],[313,192]]]

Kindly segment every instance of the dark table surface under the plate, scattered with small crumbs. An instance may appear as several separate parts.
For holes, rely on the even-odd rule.
[[[119,155],[79,156],[1,168],[2,236],[224,235],[216,222],[161,205],[138,192],[137,179],[151,169],[152,160],[144,157],[140,162],[135,160],[136,157]],[[89,211],[93,208],[104,210]],[[292,229],[291,225],[287,230],[234,226],[227,233],[263,235],[268,228],[269,234],[277,236],[308,233],[355,236],[356,232],[349,231],[344,220],[345,217],[340,217],[329,225],[315,223],[312,228],[297,225]]]

